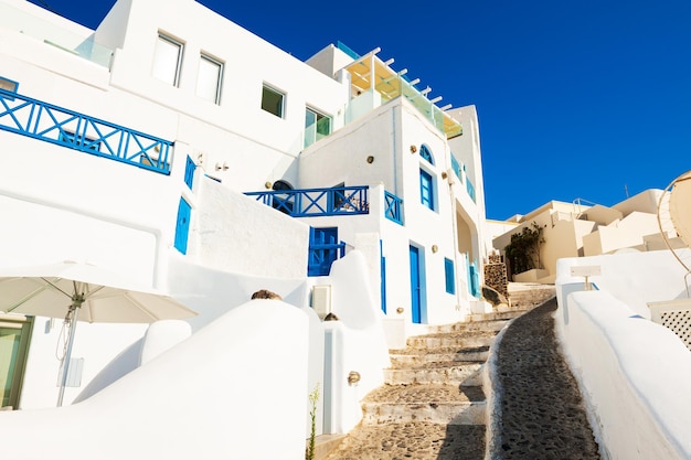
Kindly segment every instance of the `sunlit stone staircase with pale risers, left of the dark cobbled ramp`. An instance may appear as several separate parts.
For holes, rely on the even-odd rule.
[[[385,385],[327,460],[485,458],[483,366],[497,333],[525,310],[474,314],[390,350]]]

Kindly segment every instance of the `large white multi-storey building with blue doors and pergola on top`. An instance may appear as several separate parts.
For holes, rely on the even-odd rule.
[[[386,345],[486,309],[475,107],[438,108],[376,50],[304,63],[192,0],[119,0],[95,31],[0,0],[0,268],[106,267],[198,311],[193,336],[263,288],[333,311],[342,324],[309,328],[357,343],[326,362],[362,381],[327,403],[325,432],[358,421]],[[60,323],[2,321],[21,343],[2,405],[54,405]],[[79,324],[65,400],[146,328]],[[312,345],[302,398],[331,378]]]

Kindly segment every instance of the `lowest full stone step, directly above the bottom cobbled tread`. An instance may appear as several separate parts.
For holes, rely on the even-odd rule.
[[[363,399],[362,409],[364,425],[483,425],[486,399],[480,386],[384,385]]]

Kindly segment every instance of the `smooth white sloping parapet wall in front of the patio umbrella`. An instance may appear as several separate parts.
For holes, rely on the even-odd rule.
[[[305,312],[252,300],[82,403],[3,413],[2,456],[304,459],[307,349]]]

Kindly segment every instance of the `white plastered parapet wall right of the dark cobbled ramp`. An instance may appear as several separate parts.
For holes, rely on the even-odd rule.
[[[606,458],[689,459],[691,352],[672,331],[639,313],[640,300],[623,300],[663,297],[663,287],[669,299],[680,296],[677,276],[670,277],[679,269],[663,252],[636,256],[559,261],[557,336]],[[595,289],[584,290],[583,280],[571,276],[575,265],[600,267]],[[632,282],[641,272],[645,282]],[[619,291],[623,286],[627,292]]]

